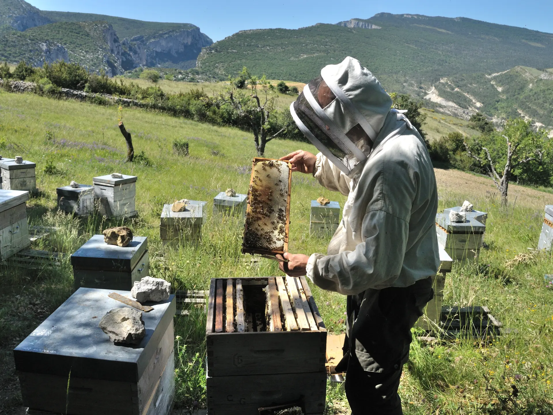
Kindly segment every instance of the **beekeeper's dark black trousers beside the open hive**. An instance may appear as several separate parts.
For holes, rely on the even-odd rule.
[[[347,371],[352,415],[403,414],[398,387],[409,359],[411,328],[433,295],[431,278],[348,295],[345,353],[336,370]]]

